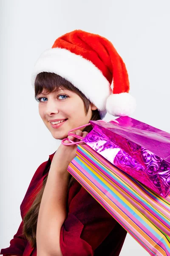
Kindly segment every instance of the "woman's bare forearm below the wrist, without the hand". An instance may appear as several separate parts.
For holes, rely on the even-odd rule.
[[[59,235],[66,218],[69,173],[51,165],[37,221],[37,256],[62,256]]]

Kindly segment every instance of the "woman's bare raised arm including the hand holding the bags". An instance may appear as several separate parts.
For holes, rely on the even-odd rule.
[[[76,131],[85,137],[87,132]],[[75,139],[68,136],[69,139]],[[77,145],[60,145],[55,152],[40,204],[37,221],[37,256],[62,256],[60,230],[67,212],[69,163],[76,156]]]

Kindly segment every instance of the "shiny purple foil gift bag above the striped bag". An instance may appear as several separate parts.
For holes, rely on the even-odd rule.
[[[157,194],[170,192],[170,134],[129,116],[90,121],[84,142]]]

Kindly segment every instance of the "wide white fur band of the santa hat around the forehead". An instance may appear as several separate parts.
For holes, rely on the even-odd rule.
[[[51,48],[38,58],[31,74],[31,84],[41,72],[56,73],[70,81],[105,115],[111,86],[102,72],[89,60],[67,49]]]

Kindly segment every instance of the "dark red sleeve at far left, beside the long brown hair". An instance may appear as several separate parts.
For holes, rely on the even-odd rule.
[[[48,161],[49,161],[49,159],[48,159]],[[18,228],[17,233],[14,235],[14,238],[11,239],[10,246],[5,249],[1,249],[0,254],[3,254],[3,256],[8,256],[8,255],[23,256],[23,252],[24,252],[27,242],[28,242],[22,235],[22,233],[23,233],[23,216],[28,208],[28,198],[29,198],[29,196],[31,196],[31,193],[33,191],[33,188],[35,187],[35,184],[37,184],[41,180],[42,172],[45,169],[48,161],[43,162],[37,168],[36,172],[34,173],[32,179],[31,179],[31,182],[26,191],[26,195],[24,196],[23,201],[20,205],[20,212],[21,212],[21,217],[22,217],[20,227]],[[27,207],[26,207],[26,205],[27,205]]]

